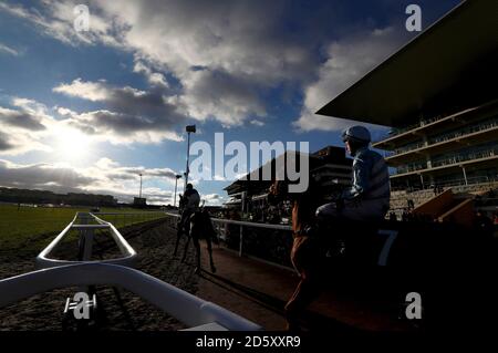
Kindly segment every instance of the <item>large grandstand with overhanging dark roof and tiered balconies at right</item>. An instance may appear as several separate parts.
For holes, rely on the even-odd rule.
[[[464,1],[318,114],[392,129],[393,190],[498,185],[496,1]]]

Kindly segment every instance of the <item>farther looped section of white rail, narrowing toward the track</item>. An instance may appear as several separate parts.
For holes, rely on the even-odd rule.
[[[98,225],[87,225],[89,220],[94,219],[98,222]],[[80,220],[82,224],[76,224],[76,221]],[[82,258],[77,261],[70,261],[70,260],[56,260],[49,258],[50,253],[53,251],[53,249],[62,241],[62,239],[68,236],[70,230],[79,230],[80,231],[80,241],[84,241],[84,249],[83,253],[81,255]],[[97,229],[107,229],[110,230],[111,236],[116,241],[116,245],[123,255],[123,257],[117,259],[110,259],[110,260],[101,260],[98,262],[101,263],[115,263],[115,264],[123,264],[123,266],[133,266],[136,252],[135,250],[128,245],[128,242],[123,238],[123,236],[120,233],[120,231],[110,222],[100,219],[96,216],[93,216],[92,214],[76,214],[74,219],[62,230],[58,237],[55,237],[54,240],[45,248],[43,249],[40,255],[37,257],[37,267],[38,268],[50,268],[50,267],[58,267],[58,266],[64,266],[64,264],[74,264],[74,263],[82,263],[82,262],[96,262],[96,261],[90,261],[90,258],[92,256],[92,246],[93,246],[93,237],[94,231]]]

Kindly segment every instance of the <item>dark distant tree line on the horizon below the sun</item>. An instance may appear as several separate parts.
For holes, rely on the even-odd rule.
[[[28,190],[0,187],[0,201],[14,204],[52,204],[70,206],[116,206],[112,195],[55,194],[46,190]]]

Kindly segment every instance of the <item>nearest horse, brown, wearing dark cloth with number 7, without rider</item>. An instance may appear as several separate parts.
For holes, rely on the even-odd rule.
[[[293,205],[290,258],[300,281],[286,305],[289,330],[301,329],[305,308],[324,288],[345,290],[350,298],[365,302],[381,298],[403,315],[407,294],[417,292],[426,328],[448,328],[460,324],[463,318],[485,315],[496,301],[488,280],[489,271],[497,269],[496,242],[474,229],[338,218],[309,235],[307,227],[319,221],[317,207],[325,203],[323,189],[313,177],[301,194],[288,193],[288,184],[276,180],[268,198],[272,204],[288,199]]]

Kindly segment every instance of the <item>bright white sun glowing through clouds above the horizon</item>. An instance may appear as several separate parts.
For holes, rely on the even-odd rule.
[[[89,156],[91,138],[74,128],[64,128],[58,132],[55,150],[62,162],[81,162]]]

